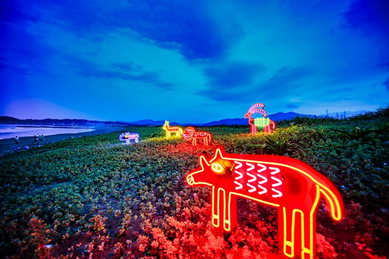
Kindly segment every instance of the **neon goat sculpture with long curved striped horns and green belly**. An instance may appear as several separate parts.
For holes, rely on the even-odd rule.
[[[257,127],[264,128],[264,132],[266,134],[270,134],[272,129],[276,128],[276,123],[269,118],[255,118],[252,119],[252,115],[254,113],[260,113],[264,117],[267,116],[267,113],[265,111],[265,104],[254,104],[249,109],[248,112],[245,114],[245,118],[248,118],[248,124],[250,124],[250,133],[253,135],[257,134]]]

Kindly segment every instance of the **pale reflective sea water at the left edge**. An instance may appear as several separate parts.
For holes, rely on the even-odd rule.
[[[23,127],[30,126],[30,127]],[[43,136],[55,135],[55,134],[65,134],[65,133],[80,133],[80,132],[89,132],[93,131],[91,128],[59,128],[59,127],[50,127],[44,128],[42,125],[10,125],[10,124],[0,124],[0,139],[3,138],[15,138],[15,136],[20,137],[34,137],[43,134]]]

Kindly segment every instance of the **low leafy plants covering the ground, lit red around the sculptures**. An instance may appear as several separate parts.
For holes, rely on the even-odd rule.
[[[212,133],[208,147],[129,128],[140,143],[110,133],[0,156],[0,257],[280,258],[275,208],[238,198],[238,229],[212,230],[211,191],[185,176],[217,145],[294,157],[335,183],[344,218],[334,223],[319,205],[318,258],[388,257],[389,108],[278,127],[256,137],[248,126],[198,128]]]

